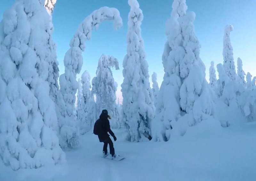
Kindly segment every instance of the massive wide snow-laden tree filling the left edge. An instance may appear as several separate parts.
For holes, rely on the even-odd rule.
[[[65,160],[47,80],[50,23],[42,0],[16,1],[0,23],[0,157],[13,170]]]

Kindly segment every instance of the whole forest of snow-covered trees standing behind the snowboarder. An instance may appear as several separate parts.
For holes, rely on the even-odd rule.
[[[111,127],[126,129],[127,140],[134,142],[169,141],[202,121],[220,127],[256,121],[256,77],[243,70],[243,57],[235,65],[232,25],[223,27],[223,64],[211,62],[206,80],[195,13],[187,11],[186,0],[174,0],[166,21],[159,89],[155,72],[150,85],[137,0],[128,0],[123,61],[102,54],[95,77],[86,70],[77,76],[85,42],[104,21],[113,21],[118,30],[123,24],[119,11],[102,7],[78,25],[63,60],[65,73],[59,76],[52,38],[55,3],[17,0],[0,23],[0,158],[13,170],[63,163],[64,150],[79,146],[80,135],[92,130],[103,109],[112,117]],[[121,85],[112,73],[119,69]],[[122,105],[117,86],[122,88]]]

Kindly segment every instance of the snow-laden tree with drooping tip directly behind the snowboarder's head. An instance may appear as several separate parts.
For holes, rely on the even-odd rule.
[[[103,109],[108,110],[108,114],[113,119],[110,123],[115,122],[114,127],[117,128],[119,123],[119,112],[116,104],[117,84],[113,78],[111,68],[119,70],[117,59],[102,54],[98,62],[96,77],[93,78],[92,92],[96,95],[96,115],[99,116]]]

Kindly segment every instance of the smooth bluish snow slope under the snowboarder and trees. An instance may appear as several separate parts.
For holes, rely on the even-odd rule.
[[[243,180],[256,177],[256,122],[220,127],[202,121],[183,137],[168,142],[128,142],[124,130],[114,130],[122,161],[101,158],[103,144],[91,132],[80,147],[66,151],[67,163],[13,171],[0,161],[0,180]]]

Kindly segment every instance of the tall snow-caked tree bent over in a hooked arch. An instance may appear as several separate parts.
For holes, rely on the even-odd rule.
[[[62,148],[72,148],[79,144],[78,129],[73,119],[73,111],[75,109],[75,94],[78,88],[76,74],[80,73],[83,65],[82,52],[85,49],[85,42],[91,39],[93,27],[97,30],[101,22],[109,20],[114,22],[115,29],[122,26],[122,18],[116,8],[102,7],[93,11],[78,26],[69,43],[70,48],[64,57],[65,73],[60,75],[60,93],[57,100],[60,145]]]

